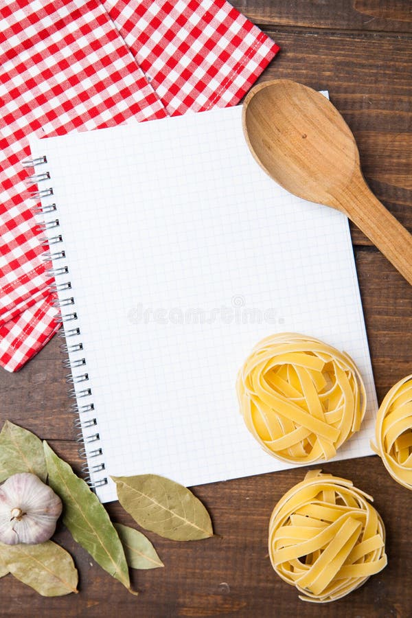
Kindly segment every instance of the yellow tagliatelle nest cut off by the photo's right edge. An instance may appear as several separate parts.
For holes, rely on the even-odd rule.
[[[412,375],[391,388],[378,410],[371,444],[395,481],[412,490]]]

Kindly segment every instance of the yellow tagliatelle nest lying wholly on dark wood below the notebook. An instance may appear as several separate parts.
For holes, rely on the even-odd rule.
[[[310,470],[275,506],[271,563],[303,601],[340,599],[386,566],[385,526],[367,500],[351,481]]]

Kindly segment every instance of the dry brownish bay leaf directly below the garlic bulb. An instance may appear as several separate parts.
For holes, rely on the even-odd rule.
[[[43,597],[77,593],[78,571],[70,554],[46,541],[38,545],[0,543],[0,559],[17,580]]]

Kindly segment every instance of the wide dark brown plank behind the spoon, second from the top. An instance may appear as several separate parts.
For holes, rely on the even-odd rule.
[[[369,187],[412,231],[412,41],[266,32],[281,52],[261,80],[286,78],[327,89],[356,137]],[[354,244],[370,244],[356,227],[351,230]]]

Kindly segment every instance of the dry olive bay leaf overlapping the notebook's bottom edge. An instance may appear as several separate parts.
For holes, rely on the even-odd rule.
[[[183,485],[157,474],[112,478],[120,504],[141,527],[172,540],[213,536],[209,513]]]

